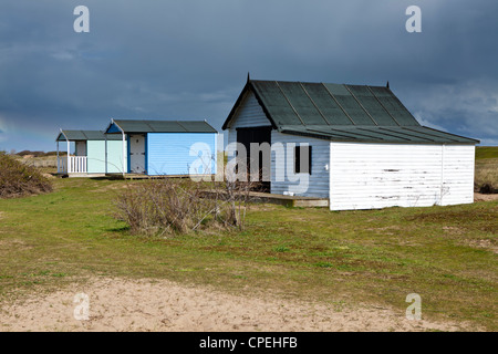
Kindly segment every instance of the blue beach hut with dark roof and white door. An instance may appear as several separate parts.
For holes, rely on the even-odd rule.
[[[218,132],[206,121],[111,119],[107,136],[122,140],[126,174],[214,175]],[[110,139],[107,139],[110,140]]]

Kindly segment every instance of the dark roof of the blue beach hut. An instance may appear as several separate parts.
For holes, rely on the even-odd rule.
[[[117,126],[120,129],[113,131]],[[218,133],[206,121],[138,121],[113,119],[105,131],[106,134],[121,133]]]

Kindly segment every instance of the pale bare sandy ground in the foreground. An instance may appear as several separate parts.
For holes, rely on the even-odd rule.
[[[87,295],[75,301],[79,293]],[[87,304],[87,306],[86,306]],[[408,305],[408,304],[407,304]],[[87,320],[82,320],[87,309]],[[75,319],[76,316],[80,320]],[[0,305],[0,332],[461,331],[450,323],[406,320],[404,311],[243,296],[166,280],[94,279]]]

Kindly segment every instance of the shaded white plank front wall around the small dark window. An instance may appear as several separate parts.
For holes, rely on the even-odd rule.
[[[286,152],[286,158],[277,158],[274,152],[271,153],[271,192],[282,195],[291,191],[297,196],[304,197],[329,197],[329,165],[330,143],[328,140],[317,139],[312,137],[304,137],[298,135],[282,134],[277,131],[271,131],[271,144],[282,143]],[[300,181],[291,181],[288,171],[294,169],[294,149],[287,148],[288,146],[295,146],[308,143],[311,146],[311,175],[309,176],[305,190],[300,186]],[[295,145],[289,145],[295,144]],[[290,154],[291,156],[288,156]],[[288,164],[291,166],[288,166]],[[284,176],[283,181],[277,180],[277,176]]]

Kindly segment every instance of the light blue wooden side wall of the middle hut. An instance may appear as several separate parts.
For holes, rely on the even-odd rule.
[[[216,137],[217,134],[212,133],[148,133],[146,137],[147,174],[151,176],[189,175],[190,168],[195,168],[195,174],[215,174]],[[209,150],[200,152],[203,157],[190,156],[190,148],[196,143],[209,146]]]

